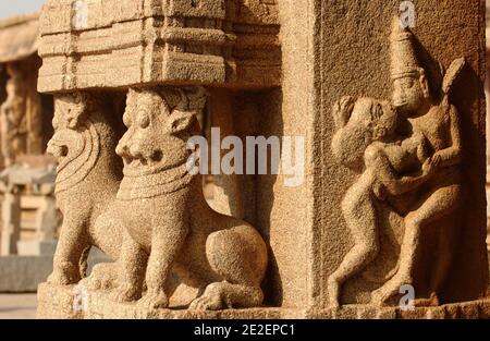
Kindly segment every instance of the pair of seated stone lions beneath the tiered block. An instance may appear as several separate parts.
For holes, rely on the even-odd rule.
[[[89,289],[113,289],[119,302],[168,307],[170,275],[203,289],[193,309],[257,306],[267,267],[260,234],[244,221],[207,205],[200,176],[188,172],[187,141],[199,132],[201,89],[131,89],[115,146],[114,125],[101,101],[87,94],[57,98],[56,133],[48,150],[59,160],[57,197],[64,215],[50,283],[84,278],[95,245],[118,259],[98,265],[84,280]],[[119,158],[124,161],[120,182]],[[86,197],[76,205],[73,197]],[[146,273],[146,280],[145,280]]]

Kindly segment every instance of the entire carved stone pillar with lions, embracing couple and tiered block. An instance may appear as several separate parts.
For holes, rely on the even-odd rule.
[[[84,3],[41,15],[64,222],[40,317],[490,316],[480,1]],[[283,172],[218,182],[247,221],[187,168],[206,102],[278,142]],[[119,266],[74,287],[91,246]]]

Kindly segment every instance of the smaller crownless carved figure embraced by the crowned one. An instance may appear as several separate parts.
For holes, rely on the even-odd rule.
[[[328,281],[330,306],[338,307],[342,283],[378,255],[376,203],[384,198],[385,188],[397,195],[414,190],[426,181],[430,169],[421,167],[427,160],[421,135],[397,139],[397,115],[388,102],[344,97],[334,105],[333,115],[338,129],[333,154],[342,165],[360,173],[342,200],[354,247]]]

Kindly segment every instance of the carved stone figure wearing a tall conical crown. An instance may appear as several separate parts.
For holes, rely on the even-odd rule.
[[[425,183],[418,203],[404,219],[405,235],[399,271],[372,293],[372,302],[377,304],[384,303],[397,293],[401,285],[413,283],[413,268],[421,243],[421,229],[448,217],[462,202],[460,118],[449,97],[465,61],[455,60],[449,68],[442,85],[443,99],[438,102],[430,94],[425,70],[418,64],[413,34],[408,29],[402,29],[396,20],[393,22],[391,42],[393,105],[406,118],[414,134],[422,134],[428,141],[430,153],[428,167],[433,169],[431,172],[434,175]],[[445,241],[449,239],[449,235],[444,236]],[[443,246],[450,247],[448,244]],[[439,304],[437,294],[449,267],[450,259],[445,258],[434,270],[431,304]]]

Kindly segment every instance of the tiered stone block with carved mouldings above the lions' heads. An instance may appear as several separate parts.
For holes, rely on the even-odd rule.
[[[280,84],[271,0],[50,0],[39,90]]]

